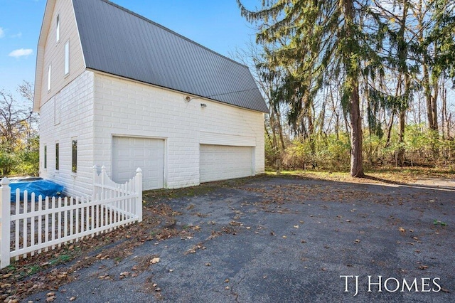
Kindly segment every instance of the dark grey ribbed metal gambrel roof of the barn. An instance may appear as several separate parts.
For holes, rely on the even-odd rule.
[[[110,1],[73,6],[87,68],[268,112],[247,66]]]

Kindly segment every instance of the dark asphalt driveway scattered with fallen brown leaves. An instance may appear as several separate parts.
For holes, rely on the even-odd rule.
[[[455,188],[258,177],[153,203],[168,237],[23,302],[455,301]]]

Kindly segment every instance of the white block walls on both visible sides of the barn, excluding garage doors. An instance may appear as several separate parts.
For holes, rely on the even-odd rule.
[[[62,184],[71,195],[90,194],[93,165],[106,166],[112,176],[114,137],[164,143],[164,188],[200,184],[201,143],[248,148],[255,153],[252,174],[264,172],[262,113],[197,98],[186,102],[185,97],[85,71],[41,108],[41,176]],[[60,119],[55,117],[58,113]],[[76,174],[71,172],[73,139],[77,139]],[[60,145],[59,171],[55,171],[55,142]],[[44,146],[48,147],[47,169],[43,167]]]

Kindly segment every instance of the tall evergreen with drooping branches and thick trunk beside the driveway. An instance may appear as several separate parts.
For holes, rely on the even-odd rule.
[[[288,71],[282,90],[294,110],[291,115],[301,115],[324,80],[341,79],[343,110],[350,117],[350,174],[357,177],[363,176],[360,66],[377,64],[371,46],[380,43],[378,18],[369,2],[262,0],[262,9],[250,11],[237,0],[242,16],[258,25],[257,43],[272,50],[269,64]],[[301,97],[291,98],[296,92]]]

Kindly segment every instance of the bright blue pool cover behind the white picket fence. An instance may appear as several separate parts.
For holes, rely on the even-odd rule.
[[[41,178],[11,180],[9,186],[11,187],[11,202],[16,202],[16,188],[19,188],[21,201],[23,201],[24,191],[27,191],[28,201],[31,200],[31,193],[35,193],[35,201],[38,201],[40,195],[44,199],[45,197],[60,197],[63,193],[63,186]]]

